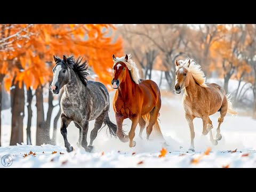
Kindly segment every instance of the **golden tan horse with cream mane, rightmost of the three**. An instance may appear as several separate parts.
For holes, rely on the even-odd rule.
[[[190,63],[191,61],[191,63]],[[176,60],[176,81],[174,85],[175,93],[180,93],[184,89],[182,105],[185,110],[185,117],[187,119],[189,129],[191,146],[189,150],[194,150],[194,125],[193,119],[195,117],[203,119],[203,134],[206,135],[210,131],[210,140],[213,145],[218,145],[221,140],[220,124],[223,122],[227,112],[235,115],[236,111],[232,109],[232,103],[229,95],[225,95],[225,90],[216,83],[205,83],[204,72],[201,66],[187,58],[186,60]],[[218,119],[218,128],[216,139],[212,137],[212,121],[210,115],[220,111]]]

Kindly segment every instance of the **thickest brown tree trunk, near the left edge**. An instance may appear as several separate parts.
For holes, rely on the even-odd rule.
[[[15,77],[13,78],[14,82]],[[19,82],[12,83],[11,90],[11,107],[12,107],[12,131],[10,145],[17,145],[23,142],[23,118],[25,108],[25,91],[24,84]]]

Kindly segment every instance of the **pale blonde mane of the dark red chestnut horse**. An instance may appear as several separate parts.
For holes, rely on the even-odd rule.
[[[116,63],[119,61],[125,63],[126,67],[131,71],[132,80],[136,84],[140,84],[139,69],[137,68],[135,62],[131,59],[131,57],[132,57],[132,55],[129,54],[127,62],[125,61],[125,56],[121,57],[121,58],[116,57],[115,59],[113,59],[114,65],[116,65]]]

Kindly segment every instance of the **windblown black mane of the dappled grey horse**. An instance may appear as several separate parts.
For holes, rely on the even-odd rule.
[[[88,71],[88,63],[87,60],[83,61],[83,57],[81,58],[80,56],[75,59],[74,55],[71,55],[70,57],[67,58],[67,62],[64,60],[61,60],[58,56],[56,57],[56,66],[58,63],[63,63],[63,65],[69,67],[70,69],[73,69],[74,72],[77,74],[79,79],[82,81],[82,83],[86,86],[87,85],[87,78],[86,76],[90,75]]]

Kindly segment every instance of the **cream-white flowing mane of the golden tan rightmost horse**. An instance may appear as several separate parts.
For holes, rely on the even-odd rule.
[[[188,67],[189,60],[190,60],[190,65]],[[190,58],[187,58],[185,60],[179,60],[179,63],[180,65],[176,67],[177,70],[184,67],[191,73],[191,75],[195,79],[195,82],[198,85],[202,87],[207,87],[207,85],[205,84],[204,71],[202,71],[202,68],[200,65],[196,64],[195,61],[193,61],[193,59],[190,59]]]

